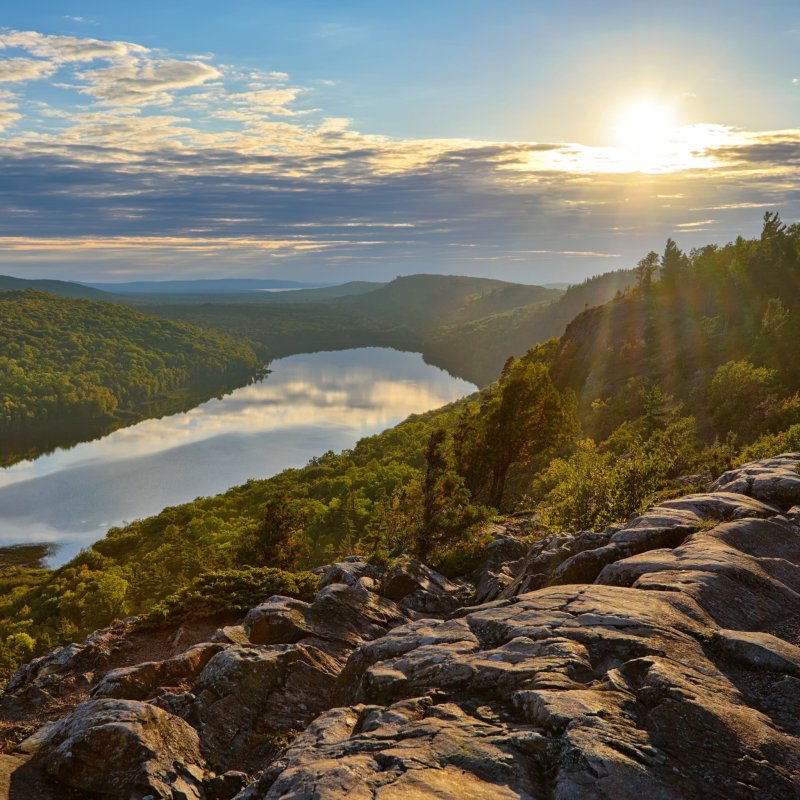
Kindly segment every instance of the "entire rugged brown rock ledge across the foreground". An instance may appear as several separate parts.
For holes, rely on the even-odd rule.
[[[797,797],[798,465],[602,532],[498,529],[470,582],[348,559],[312,603],[146,634],[160,660],[100,631],[7,687],[8,796]]]

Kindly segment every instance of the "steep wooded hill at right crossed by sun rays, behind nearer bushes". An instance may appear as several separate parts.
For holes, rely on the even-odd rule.
[[[590,431],[641,411],[653,386],[707,433],[747,441],[800,422],[800,225],[767,215],[760,238],[690,254],[669,241],[637,274],[635,290],[568,326],[552,366]]]

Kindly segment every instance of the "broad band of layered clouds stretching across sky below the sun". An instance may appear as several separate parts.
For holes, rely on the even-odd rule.
[[[365,133],[319,82],[210,54],[9,30],[0,53],[0,264],[572,280],[800,216],[800,131],[689,126],[648,171],[610,147]],[[27,94],[45,80],[57,97]]]

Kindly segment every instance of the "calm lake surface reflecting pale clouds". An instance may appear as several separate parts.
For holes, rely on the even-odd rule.
[[[301,467],[476,389],[384,348],[290,356],[270,369],[189,412],[0,470],[0,546],[53,542],[59,564],[111,526]]]

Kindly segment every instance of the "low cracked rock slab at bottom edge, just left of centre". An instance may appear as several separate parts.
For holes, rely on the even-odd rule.
[[[240,800],[519,800],[545,796],[528,769],[544,738],[513,734],[452,704],[417,698],[323,714]]]

